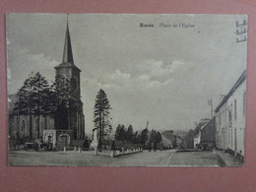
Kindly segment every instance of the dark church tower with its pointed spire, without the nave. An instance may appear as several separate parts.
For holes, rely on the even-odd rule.
[[[72,93],[67,106],[62,106],[62,108],[59,109],[59,112],[62,114],[60,116],[56,115],[55,129],[73,130],[73,137],[75,140],[84,139],[85,117],[83,114],[83,102],[81,101],[81,70],[74,64],[68,21],[62,63],[55,67],[55,72],[56,77],[63,77],[70,82],[70,90]]]

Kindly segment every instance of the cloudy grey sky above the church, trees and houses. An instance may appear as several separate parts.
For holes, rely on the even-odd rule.
[[[51,84],[62,62],[66,14],[7,15],[8,94],[40,72]],[[246,69],[247,41],[236,43],[244,15],[70,14],[74,63],[81,72],[86,133],[102,89],[111,124],[134,130],[189,130]],[[154,28],[142,28],[140,24]],[[162,28],[164,24],[169,28]],[[187,28],[182,28],[187,25]],[[238,36],[239,37],[239,36]]]

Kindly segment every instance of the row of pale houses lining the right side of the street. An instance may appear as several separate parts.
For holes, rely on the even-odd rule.
[[[212,119],[199,127],[194,148],[208,143],[232,156],[244,157],[246,71],[244,71],[215,109]]]

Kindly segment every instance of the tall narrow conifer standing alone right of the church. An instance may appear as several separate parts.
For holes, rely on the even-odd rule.
[[[98,143],[99,148],[101,148],[101,142],[104,135],[106,135],[106,128],[109,125],[109,110],[111,109],[109,100],[105,95],[103,90],[99,90],[96,95],[96,104],[95,104],[95,128],[98,130]]]

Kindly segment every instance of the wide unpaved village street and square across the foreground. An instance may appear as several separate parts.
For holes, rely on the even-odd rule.
[[[176,152],[176,150],[137,153],[111,158],[108,153],[96,156],[93,151],[44,152],[10,151],[10,165],[59,166],[223,166],[223,160],[213,152]]]

